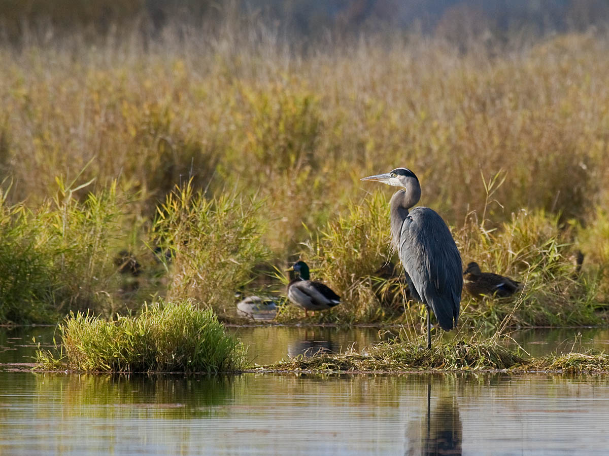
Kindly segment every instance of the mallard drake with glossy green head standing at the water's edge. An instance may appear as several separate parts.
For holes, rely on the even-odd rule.
[[[287,297],[295,306],[310,311],[326,310],[340,304],[340,296],[321,282],[309,280],[309,266],[305,261],[297,261],[292,268],[296,277],[287,285]]]

